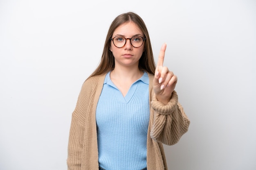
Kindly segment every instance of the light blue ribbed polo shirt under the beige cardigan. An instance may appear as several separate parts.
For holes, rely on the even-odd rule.
[[[99,166],[106,170],[146,168],[149,78],[135,81],[124,97],[106,74],[96,110]]]

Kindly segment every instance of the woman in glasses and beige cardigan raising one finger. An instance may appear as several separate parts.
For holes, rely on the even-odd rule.
[[[163,66],[165,49],[155,67],[141,17],[115,18],[72,113],[69,170],[167,169],[162,144],[177,143],[190,121],[174,91],[177,76]]]

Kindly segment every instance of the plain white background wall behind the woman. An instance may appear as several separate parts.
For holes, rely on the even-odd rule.
[[[65,170],[71,114],[110,23],[133,11],[191,120],[170,170],[256,169],[255,0],[0,0],[0,170]]]

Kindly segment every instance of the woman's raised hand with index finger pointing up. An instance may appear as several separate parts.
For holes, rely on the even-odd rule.
[[[177,76],[175,76],[173,72],[169,71],[167,67],[163,67],[165,50],[166,43],[162,45],[159,53],[153,81],[153,89],[157,100],[166,105],[170,101],[177,84]]]

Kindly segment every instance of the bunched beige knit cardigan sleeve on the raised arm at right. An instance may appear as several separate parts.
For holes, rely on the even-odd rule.
[[[166,145],[176,144],[188,131],[190,124],[182,105],[178,102],[177,93],[173,91],[172,98],[167,105],[159,102],[153,95],[151,107],[154,110],[151,138]]]

